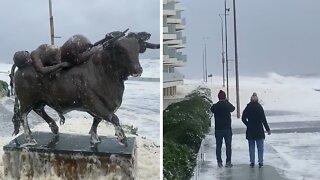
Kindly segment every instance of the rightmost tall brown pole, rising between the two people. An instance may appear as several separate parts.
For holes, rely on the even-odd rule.
[[[234,63],[235,63],[235,72],[236,72],[237,118],[240,118],[238,47],[237,47],[237,21],[236,21],[236,2],[235,2],[235,0],[233,0],[233,27],[234,27]]]

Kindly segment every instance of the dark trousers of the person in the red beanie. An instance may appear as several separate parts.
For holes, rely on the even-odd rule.
[[[222,162],[221,159],[221,147],[222,147],[222,140],[226,144],[226,155],[227,159],[226,162],[231,162],[231,142],[232,142],[232,130],[215,130],[215,137],[216,137],[216,156],[217,162]]]

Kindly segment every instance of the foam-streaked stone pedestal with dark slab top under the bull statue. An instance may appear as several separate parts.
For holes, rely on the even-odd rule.
[[[4,174],[10,179],[136,179],[136,140],[128,146],[101,136],[91,146],[89,135],[33,132],[35,146],[20,135],[3,147]]]

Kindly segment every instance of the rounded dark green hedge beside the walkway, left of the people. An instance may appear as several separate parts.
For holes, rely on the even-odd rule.
[[[199,93],[163,112],[163,173],[168,180],[190,179],[202,139],[210,127],[210,103]]]

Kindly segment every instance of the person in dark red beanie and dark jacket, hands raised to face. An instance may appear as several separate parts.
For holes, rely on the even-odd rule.
[[[211,112],[215,119],[215,137],[216,137],[216,156],[219,167],[222,167],[221,147],[222,140],[226,144],[226,167],[232,167],[231,164],[231,112],[235,107],[226,99],[226,93],[222,90],[218,94],[219,101],[211,106]]]

